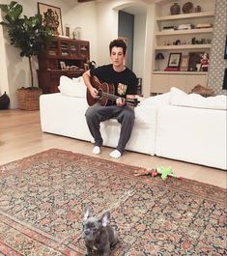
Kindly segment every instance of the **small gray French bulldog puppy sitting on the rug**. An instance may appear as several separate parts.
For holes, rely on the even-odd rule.
[[[99,217],[93,217],[89,206],[84,209],[83,238],[87,248],[86,256],[93,251],[99,256],[109,256],[111,249],[118,243],[117,232],[108,226],[110,213],[105,212]]]

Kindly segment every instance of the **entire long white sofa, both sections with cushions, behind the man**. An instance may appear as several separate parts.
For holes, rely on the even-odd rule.
[[[40,99],[43,132],[93,141],[87,128],[86,87],[82,77],[62,76],[61,93]],[[227,168],[226,97],[186,95],[177,88],[161,96],[140,99],[127,150]],[[116,120],[101,123],[103,144],[115,147],[120,134]]]

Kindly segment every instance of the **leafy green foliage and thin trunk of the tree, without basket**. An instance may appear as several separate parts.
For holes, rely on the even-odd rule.
[[[28,57],[31,61],[31,57],[43,51],[46,42],[52,38],[50,28],[43,25],[42,14],[30,17],[22,15],[23,7],[15,1],[0,5],[0,9],[5,13],[4,21],[0,24],[7,28],[11,44],[20,48],[21,57]],[[31,65],[30,72],[32,76]]]

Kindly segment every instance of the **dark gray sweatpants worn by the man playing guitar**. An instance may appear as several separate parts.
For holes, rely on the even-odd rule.
[[[132,106],[101,106],[96,103],[90,106],[86,111],[86,120],[88,128],[95,139],[95,146],[101,146],[103,143],[100,134],[100,122],[115,118],[121,124],[120,138],[116,149],[123,154],[130,138],[131,130],[134,125],[134,109]]]

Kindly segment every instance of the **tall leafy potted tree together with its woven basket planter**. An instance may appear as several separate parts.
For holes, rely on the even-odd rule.
[[[34,87],[32,57],[45,49],[52,37],[51,30],[48,25],[43,25],[42,14],[22,15],[23,7],[14,1],[9,5],[0,5],[0,9],[5,13],[0,24],[7,28],[11,44],[20,48],[20,56],[27,57],[29,61],[31,86],[17,90],[19,108],[37,110],[42,89]]]

